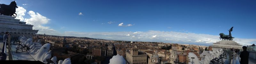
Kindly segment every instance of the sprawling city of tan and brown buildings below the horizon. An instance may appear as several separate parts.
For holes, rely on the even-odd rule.
[[[79,50],[88,49],[86,54],[82,54],[86,59],[93,59],[96,56],[111,58],[119,54],[130,64],[188,63],[189,52],[196,54],[201,60],[200,54],[205,48],[207,51],[212,49],[212,47],[186,44],[92,40],[52,35],[36,35],[34,39],[42,39],[42,43],[51,43],[52,56],[60,57],[60,59],[79,57],[78,54],[82,53],[71,51],[65,53],[65,48],[76,47]],[[97,63],[100,62],[97,61]]]

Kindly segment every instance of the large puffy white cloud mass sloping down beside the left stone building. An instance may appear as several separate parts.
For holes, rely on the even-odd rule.
[[[24,4],[27,5],[27,4]],[[59,32],[57,32],[54,29],[51,29],[51,27],[42,26],[43,24],[47,24],[50,19],[48,19],[45,16],[42,16],[39,13],[35,13],[34,11],[28,11],[28,15],[30,18],[23,18],[26,13],[26,9],[23,7],[18,6],[16,9],[16,13],[18,14],[15,19],[20,19],[20,21],[26,22],[26,24],[33,25],[33,29],[39,30],[37,34],[48,34],[48,35],[61,35]],[[61,27],[63,29],[64,27]]]

